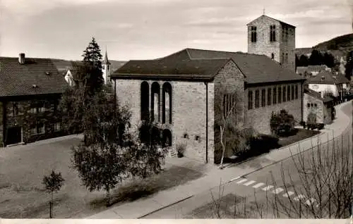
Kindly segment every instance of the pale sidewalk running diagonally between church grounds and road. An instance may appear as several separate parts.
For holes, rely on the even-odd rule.
[[[347,130],[349,125],[352,125],[352,119],[342,111],[342,108],[345,106],[349,106],[352,109],[352,102],[348,101],[344,104],[335,106],[337,118],[332,124],[326,125],[323,133],[318,135],[321,142],[326,142],[328,141],[328,138],[332,139],[332,137],[341,135]],[[334,132],[332,130],[334,130]],[[138,199],[131,203],[115,206],[112,209],[97,213],[88,218],[143,218],[143,216],[153,213],[154,211],[161,210],[172,204],[177,204],[178,202],[189,199],[200,192],[205,192],[210,188],[217,187],[220,185],[220,180],[222,180],[223,184],[226,182],[232,182],[241,176],[249,175],[250,173],[256,172],[266,166],[270,166],[285,158],[289,158],[292,154],[297,154],[300,151],[310,149],[311,142],[315,145],[318,137],[304,139],[300,142],[300,147],[298,147],[298,143],[292,144],[281,149],[270,151],[268,154],[258,156],[241,164],[231,164],[223,170],[213,166],[214,168],[209,169],[207,175],[203,178],[192,180],[185,185],[158,192],[157,194],[152,195],[152,197]]]

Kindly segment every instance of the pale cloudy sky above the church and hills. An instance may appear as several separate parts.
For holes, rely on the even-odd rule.
[[[246,52],[246,24],[264,8],[297,27],[296,47],[352,33],[353,0],[0,0],[0,56],[81,60],[92,37],[118,61]]]

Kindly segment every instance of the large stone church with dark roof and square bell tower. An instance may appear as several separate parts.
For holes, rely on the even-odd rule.
[[[294,27],[261,15],[248,30],[249,53],[182,49],[128,61],[116,70],[112,85],[119,102],[131,109],[132,127],[151,118],[172,150],[186,144],[184,156],[217,163],[221,146],[215,120],[233,107],[236,95],[243,99],[237,106],[244,108],[239,124],[270,134],[271,113],[282,108],[299,123],[305,79],[294,71]],[[285,35],[279,35],[282,30]]]

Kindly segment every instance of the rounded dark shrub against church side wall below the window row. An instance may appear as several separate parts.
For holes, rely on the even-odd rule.
[[[275,135],[290,135],[294,130],[294,117],[282,109],[280,113],[272,113],[270,129]]]

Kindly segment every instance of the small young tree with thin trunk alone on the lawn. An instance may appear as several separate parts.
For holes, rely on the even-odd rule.
[[[53,206],[53,194],[54,192],[59,192],[60,188],[63,185],[64,178],[62,178],[61,173],[55,173],[52,170],[52,173],[48,176],[44,176],[42,184],[44,185],[47,192],[51,195],[51,200],[49,202],[49,217],[52,218],[52,206]]]

